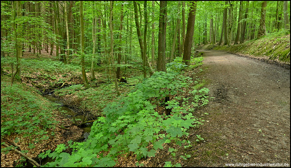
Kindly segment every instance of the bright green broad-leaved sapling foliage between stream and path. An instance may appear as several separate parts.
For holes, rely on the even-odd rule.
[[[170,116],[160,115],[156,107],[164,104],[164,97],[183,93],[190,82],[191,78],[176,72],[156,72],[136,85],[126,97],[108,104],[103,109],[106,117],[99,117],[93,123],[87,141],[70,145],[72,155],[59,153],[58,149],[48,155],[56,158],[55,162],[46,166],[114,166],[114,159],[123,153],[133,152],[140,160],[155,156],[158,149],[163,149],[164,143],[182,146],[186,142],[182,136],[188,135],[190,127],[201,125],[201,119],[195,118],[192,113],[184,114],[187,113],[186,105],[182,107],[178,103],[181,97],[167,102],[167,108],[172,108],[173,114]],[[71,87],[70,90],[77,88]],[[191,95],[196,96],[195,100],[206,103],[206,100],[200,99],[206,99],[207,93],[207,89],[201,89]],[[187,143],[190,146],[191,142]],[[148,148],[149,144],[153,147]],[[44,155],[46,153],[40,157]]]

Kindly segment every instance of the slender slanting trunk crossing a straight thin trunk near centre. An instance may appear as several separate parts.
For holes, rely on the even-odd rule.
[[[142,33],[140,31],[140,27],[139,27],[139,23],[138,23],[138,6],[137,6],[136,1],[133,2],[133,6],[134,6],[134,21],[135,21],[136,31],[138,34],[138,43],[139,43],[139,47],[141,49],[141,54],[143,54],[144,45],[143,45],[143,41],[142,41]],[[149,64],[149,60],[147,59],[147,57],[146,57],[146,65],[149,68],[149,75],[153,75],[154,71],[153,71],[153,68]]]

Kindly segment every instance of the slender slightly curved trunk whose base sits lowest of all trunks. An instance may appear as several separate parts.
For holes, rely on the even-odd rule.
[[[113,77],[114,77],[114,83],[115,83],[115,89],[118,96],[120,96],[118,83],[116,79],[116,73],[115,73],[115,63],[114,63],[114,55],[113,55],[113,27],[112,27],[112,18],[113,18],[113,1],[110,1],[110,17],[109,17],[109,28],[110,28],[110,55],[111,55],[111,61],[112,61],[112,71],[113,71]]]

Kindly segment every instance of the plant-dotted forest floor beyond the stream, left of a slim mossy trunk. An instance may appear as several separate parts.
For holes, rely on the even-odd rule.
[[[11,75],[11,65],[16,67],[16,58],[2,57],[1,67],[8,75]],[[28,86],[36,87],[41,92],[47,92],[52,89],[66,85],[81,83],[80,65],[63,64],[60,61],[51,59],[21,59],[21,81]],[[20,81],[17,75],[16,80]]]

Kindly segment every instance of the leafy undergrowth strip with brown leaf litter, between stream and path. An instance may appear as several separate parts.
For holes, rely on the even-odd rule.
[[[201,61],[201,57],[192,59],[196,65]],[[136,166],[143,166],[142,161],[158,155],[159,149],[172,144],[173,148],[168,148],[168,152],[173,157],[164,166],[181,166],[178,160],[190,155],[176,155],[177,148],[188,148],[193,144],[187,140],[190,136],[187,132],[202,124],[203,120],[194,116],[195,108],[208,103],[208,89],[200,89],[198,82],[178,73],[184,69],[181,58],[174,62],[168,64],[167,73],[156,72],[130,93],[108,104],[103,109],[103,116],[93,123],[87,141],[72,141],[69,146],[60,144],[55,152],[42,153],[42,158],[55,159],[45,166],[124,166],[121,158],[128,157],[135,160]],[[194,86],[197,89],[192,89]],[[82,86],[60,89],[59,94],[76,89],[82,90]],[[92,90],[87,89],[87,92]],[[164,111],[170,111],[170,115],[163,115]],[[197,141],[202,139],[197,135]],[[73,149],[71,155],[62,152],[66,148]]]

